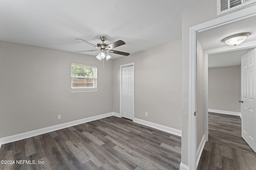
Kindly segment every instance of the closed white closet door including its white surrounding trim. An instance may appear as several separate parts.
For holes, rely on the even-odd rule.
[[[120,115],[134,119],[134,63],[120,65]]]

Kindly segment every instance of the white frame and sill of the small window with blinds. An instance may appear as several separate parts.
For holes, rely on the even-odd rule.
[[[96,68],[96,73],[94,72],[94,87],[88,87],[88,88],[74,88],[72,87],[72,78],[74,78],[74,76],[72,76],[72,65],[78,65],[78,66],[86,66],[86,67],[90,67],[90,68]],[[70,65],[70,92],[97,92],[98,88],[97,88],[97,83],[98,83],[98,79],[97,79],[97,67],[96,66],[89,66],[89,65],[84,65],[84,64],[77,64],[77,63],[71,63]],[[87,77],[78,77],[78,78],[87,78]],[[92,77],[88,77],[88,78],[92,78]]]

